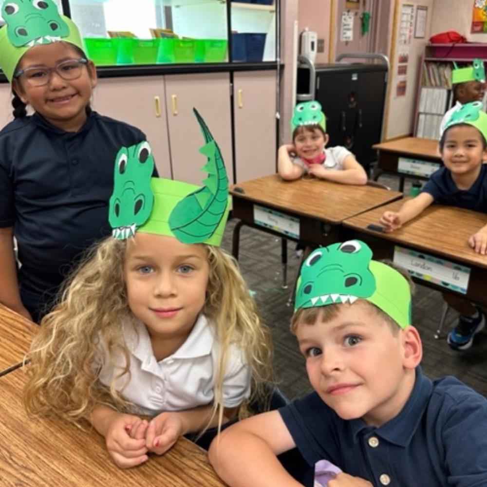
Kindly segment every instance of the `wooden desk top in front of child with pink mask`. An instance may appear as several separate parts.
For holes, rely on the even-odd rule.
[[[243,188],[244,193],[235,191],[235,187]],[[293,211],[334,224],[402,197],[398,191],[344,185],[317,178],[284,181],[277,174],[233,185],[230,193],[263,206]]]

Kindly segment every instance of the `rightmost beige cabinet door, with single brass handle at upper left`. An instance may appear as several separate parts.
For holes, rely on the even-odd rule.
[[[276,73],[233,75],[236,182],[276,172]]]

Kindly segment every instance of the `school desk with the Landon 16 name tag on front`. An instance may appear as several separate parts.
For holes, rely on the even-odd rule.
[[[393,232],[367,228],[378,225],[384,211],[397,211],[402,204],[395,201],[375,208],[345,220],[343,225],[371,246],[375,258],[393,258],[415,281],[487,305],[487,255],[474,252],[467,243],[470,235],[487,224],[487,215],[431,205]]]

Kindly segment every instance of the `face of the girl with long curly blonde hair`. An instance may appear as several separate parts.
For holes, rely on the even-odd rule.
[[[135,233],[125,254],[127,297],[131,312],[147,327],[154,353],[164,349],[167,356],[184,343],[205,304],[208,275],[204,245]],[[169,351],[165,343],[171,344]]]

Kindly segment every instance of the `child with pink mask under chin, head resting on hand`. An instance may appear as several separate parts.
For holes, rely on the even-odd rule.
[[[293,143],[278,151],[278,172],[282,179],[298,179],[309,173],[320,179],[343,184],[367,183],[365,169],[344,147],[325,149],[328,143],[325,115],[317,101],[306,101],[294,107],[291,119]]]

